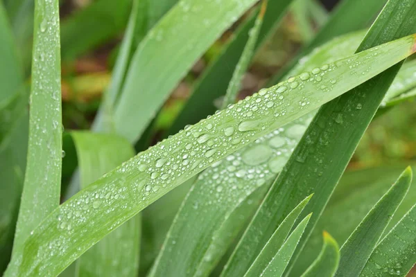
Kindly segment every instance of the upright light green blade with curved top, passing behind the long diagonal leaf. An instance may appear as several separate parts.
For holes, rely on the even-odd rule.
[[[71,135],[78,155],[81,188],[135,154],[130,143],[119,136],[91,132],[71,132]],[[105,197],[107,195],[96,195],[92,206]],[[62,224],[61,229],[71,229],[64,219]],[[136,215],[80,257],[77,276],[137,276],[139,238],[140,217]]]

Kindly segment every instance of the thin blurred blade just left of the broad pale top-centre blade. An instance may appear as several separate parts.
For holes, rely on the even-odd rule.
[[[128,21],[123,42],[121,42],[119,55],[112,71],[112,80],[103,94],[103,104],[94,119],[92,129],[96,132],[114,132],[114,107],[123,87],[125,73],[130,64],[133,49],[139,45],[146,35],[146,1],[134,0],[132,12]]]

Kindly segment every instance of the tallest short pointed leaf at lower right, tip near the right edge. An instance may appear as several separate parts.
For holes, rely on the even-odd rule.
[[[406,196],[411,181],[412,170],[408,167],[349,236],[340,249],[336,276],[358,276],[361,273],[392,215]]]

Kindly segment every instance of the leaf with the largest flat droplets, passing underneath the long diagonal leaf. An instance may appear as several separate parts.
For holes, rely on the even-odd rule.
[[[334,39],[330,43],[331,45],[322,47],[322,51],[311,54],[304,64],[296,66],[291,71],[291,75],[300,74],[302,71],[312,71],[320,63],[333,61],[336,56],[336,51],[333,50],[334,46],[338,46],[337,49],[341,52],[353,52],[350,45],[358,46],[359,41],[356,37],[360,39],[363,34]],[[280,172],[296,143],[302,137],[313,114],[315,111],[263,136],[243,150],[234,152],[220,163],[216,163],[215,166],[207,168],[193,185],[182,204],[169,232],[168,240],[165,242],[166,247],[159,253],[161,260],[159,265],[167,267],[168,261],[174,256],[173,253],[182,253],[181,265],[183,266],[188,262],[184,257],[188,256],[191,257],[190,260],[193,258],[198,260],[198,257],[203,256],[205,257],[203,260],[215,261],[216,255],[220,256],[221,253],[218,253],[218,250],[211,251],[211,249],[225,251],[232,239],[230,238],[227,243],[220,246],[218,244],[211,246],[210,244],[214,244],[214,233],[216,237],[227,236],[227,233],[221,234],[218,230],[227,224],[233,226],[234,221],[239,222],[240,220],[240,217],[232,217],[229,213],[232,213],[236,206],[258,186],[266,186],[266,188],[270,186],[270,182]],[[223,184],[227,184],[227,186]],[[218,205],[211,205],[213,202]],[[194,208],[196,203],[204,208]],[[193,222],[193,224],[189,224],[189,222]],[[187,238],[192,236],[193,239],[180,240],[182,233],[187,233]]]

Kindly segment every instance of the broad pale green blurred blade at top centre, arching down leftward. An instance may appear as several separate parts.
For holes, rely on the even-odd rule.
[[[150,30],[133,56],[115,109],[116,132],[131,142],[137,141],[193,62],[254,3],[255,0],[238,4],[205,0],[177,3]],[[187,42],[187,47],[182,42]]]

